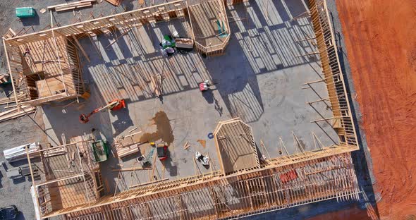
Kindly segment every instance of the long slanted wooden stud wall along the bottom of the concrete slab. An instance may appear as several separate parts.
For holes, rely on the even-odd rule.
[[[353,161],[345,152],[235,175],[149,185],[55,214],[66,219],[232,219],[322,200],[358,200],[359,193]]]

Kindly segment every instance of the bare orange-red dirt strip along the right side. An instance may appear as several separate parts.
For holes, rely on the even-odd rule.
[[[382,219],[416,216],[416,0],[337,0]],[[355,97],[355,94],[351,94]],[[416,218],[416,217],[415,217]]]

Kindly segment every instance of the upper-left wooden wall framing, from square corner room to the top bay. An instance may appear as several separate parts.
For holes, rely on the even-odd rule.
[[[200,51],[207,56],[214,56],[224,53],[224,49],[228,44],[230,38],[230,30],[228,25],[228,18],[226,16],[224,1],[221,0],[212,0],[218,1],[221,6],[219,10],[219,17],[224,18],[224,24],[226,25],[228,36],[222,44],[211,45],[205,47],[202,44],[199,44],[195,41],[195,47],[197,51]],[[198,6],[198,4],[204,4],[204,1],[193,1],[192,6]],[[85,92],[85,87],[82,80],[82,73],[80,67],[80,61],[78,57],[77,47],[75,43],[78,44],[78,39],[82,37],[90,37],[93,35],[101,35],[108,30],[118,29],[129,29],[131,27],[137,27],[141,25],[148,25],[149,23],[157,23],[159,21],[170,20],[173,18],[180,18],[185,16],[188,13],[188,0],[176,0],[170,1],[165,4],[159,4],[156,6],[149,6],[146,8],[140,8],[134,11],[128,11],[124,13],[118,13],[116,15],[105,16],[102,18],[96,18],[92,20],[87,20],[80,23],[75,23],[71,25],[65,25],[61,27],[53,27],[49,30],[42,30],[35,33],[20,35],[11,37],[8,39],[3,39],[4,49],[6,51],[6,57],[8,61],[8,68],[12,76],[13,90],[15,94],[16,104],[30,104],[30,105],[39,105],[51,101],[62,101],[64,99],[78,98],[81,97]],[[191,18],[189,18],[191,20]],[[192,20],[191,23],[191,32],[192,30]],[[67,45],[66,50],[62,51],[68,53],[68,60],[64,61],[65,63],[71,66],[70,72],[72,72],[73,77],[73,86],[77,88],[76,94],[69,94],[65,92],[63,94],[54,94],[50,97],[42,97],[39,99],[32,99],[31,89],[28,87],[27,82],[22,78],[23,76],[23,51],[19,51],[20,46],[25,44],[31,44],[39,41],[47,41],[53,39],[56,44],[57,38],[65,38],[70,42]],[[194,37],[195,38],[195,37]],[[74,42],[75,41],[75,42]],[[73,44],[73,45],[71,45]],[[80,45],[78,44],[78,47]],[[80,48],[81,51],[82,48]],[[59,62],[61,66],[61,62]],[[61,68],[61,72],[65,71]],[[63,73],[61,73],[63,74]],[[63,78],[63,75],[62,75]],[[72,84],[71,84],[72,85]],[[66,87],[66,83],[63,83],[63,86]]]

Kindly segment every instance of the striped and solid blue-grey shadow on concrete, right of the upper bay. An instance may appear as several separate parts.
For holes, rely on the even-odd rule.
[[[216,88],[231,116],[247,123],[258,121],[264,113],[257,75],[319,61],[317,54],[301,56],[316,50],[310,42],[296,43],[314,35],[309,21],[290,20],[281,1],[271,2],[267,4],[276,10],[269,15],[257,1],[228,8],[235,15],[229,16],[230,20],[243,21],[230,23],[232,37],[226,54],[204,60],[213,80],[220,81]],[[291,2],[288,8],[296,16],[306,11],[301,1]]]

